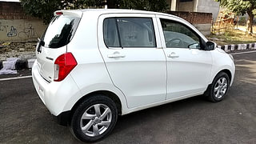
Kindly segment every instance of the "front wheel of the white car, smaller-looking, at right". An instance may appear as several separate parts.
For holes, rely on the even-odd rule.
[[[230,78],[224,73],[220,72],[214,78],[212,84],[210,84],[205,92],[206,98],[211,102],[220,102],[226,96],[226,92],[230,87]]]

